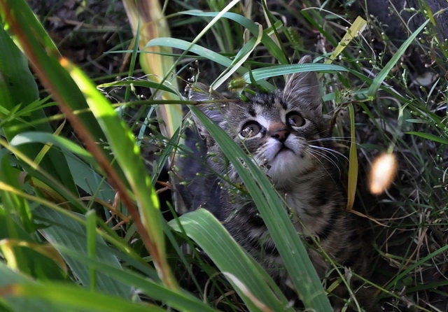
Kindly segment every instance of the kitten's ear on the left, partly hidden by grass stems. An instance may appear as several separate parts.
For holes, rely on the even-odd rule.
[[[186,92],[188,94],[188,99],[190,101],[210,101],[216,99],[225,99],[223,95],[214,91],[209,93],[209,87],[203,83],[195,83],[192,85],[187,85]],[[220,127],[224,127],[225,118],[223,116],[223,105],[221,103],[209,103],[209,104],[199,104],[197,108],[200,108],[202,113],[207,115],[213,122],[215,122]],[[196,120],[197,129],[199,129],[200,134],[207,136],[207,130],[202,126],[199,120]]]

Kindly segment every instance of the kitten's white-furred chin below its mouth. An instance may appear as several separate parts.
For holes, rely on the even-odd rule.
[[[292,150],[281,150],[269,162],[267,175],[276,185],[283,185],[295,180],[300,173],[307,171],[311,166],[309,159],[298,157]]]

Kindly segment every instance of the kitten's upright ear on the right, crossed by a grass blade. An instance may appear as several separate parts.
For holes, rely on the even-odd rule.
[[[311,57],[305,55],[299,64],[311,63]],[[312,111],[321,114],[322,105],[319,96],[319,83],[314,71],[293,73],[286,78],[283,101],[300,101]]]

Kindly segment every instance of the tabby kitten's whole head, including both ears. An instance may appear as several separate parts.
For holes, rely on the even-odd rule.
[[[207,87],[197,84],[196,90],[190,89],[189,98],[223,99],[221,94],[200,90]],[[202,111],[247,150],[279,187],[309,173],[321,162],[309,147],[325,136],[315,73],[295,73],[283,90],[258,94],[249,102],[208,104]],[[201,125],[198,128],[209,149],[216,152],[214,139]]]

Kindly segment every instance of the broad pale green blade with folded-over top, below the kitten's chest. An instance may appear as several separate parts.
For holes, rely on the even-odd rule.
[[[269,306],[274,311],[286,311],[287,301],[285,297],[280,300],[274,296],[269,284],[274,283],[271,278],[268,281],[260,275],[262,268],[232,239],[232,236],[221,225],[221,222],[204,209],[186,213],[179,218],[181,227],[186,234],[209,255],[221,272],[236,276],[241,283],[251,292],[255,298]],[[181,232],[181,227],[173,220],[169,225]],[[266,274],[265,274],[266,275]],[[228,278],[229,279],[229,278]],[[251,311],[260,311],[247,294],[237,287],[231,279],[230,283],[237,290],[238,295],[244,300]],[[276,287],[276,286],[274,286]],[[280,290],[276,290],[277,293]]]

